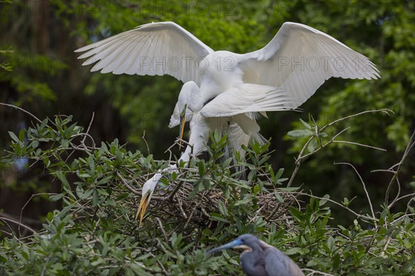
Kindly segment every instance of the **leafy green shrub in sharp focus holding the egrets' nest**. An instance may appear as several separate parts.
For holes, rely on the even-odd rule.
[[[256,234],[313,271],[414,273],[413,194],[403,212],[392,213],[387,205],[374,215],[351,210],[351,226],[329,226],[329,203],[335,202],[282,187],[287,178],[284,169],[275,173],[269,165],[269,142],[245,147],[246,160],[232,165],[224,159],[227,138],[217,132],[208,160],[181,164],[178,174],[156,187],[138,228],[133,216],[140,183],[167,163],[127,151],[118,140],[98,147],[71,119],[37,120],[9,133],[8,162],[23,156],[42,162],[62,185],[49,196],[62,208],[49,212],[42,230],[29,237],[1,233],[1,275],[241,275],[239,252],[214,257],[205,249],[243,233]],[[241,165],[246,179],[238,178]],[[307,202],[304,208],[299,200]],[[342,205],[349,208],[351,201],[335,206]]]

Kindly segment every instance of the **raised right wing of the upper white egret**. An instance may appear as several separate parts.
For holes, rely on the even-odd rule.
[[[292,22],[284,23],[264,48],[241,55],[240,66],[244,82],[281,87],[297,104],[304,103],[330,77],[380,77],[364,55],[330,35]]]

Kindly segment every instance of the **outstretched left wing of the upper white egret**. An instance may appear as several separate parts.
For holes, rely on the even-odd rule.
[[[82,65],[92,71],[129,75],[172,75],[182,82],[199,84],[198,62],[213,50],[174,22],[158,22],[84,46]]]

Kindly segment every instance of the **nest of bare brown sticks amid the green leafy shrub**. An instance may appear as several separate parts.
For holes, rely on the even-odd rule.
[[[143,174],[137,178],[129,176],[129,190],[133,189],[137,196],[131,201],[131,208],[134,210],[137,208],[140,201],[140,191],[145,181],[151,178],[153,174]],[[127,176],[128,177],[128,176]],[[202,189],[194,194],[192,199],[189,199],[190,194],[194,190],[195,181],[197,181],[199,175],[195,172],[195,169],[181,169],[178,178],[175,181],[169,180],[169,185],[163,187],[163,185],[157,185],[151,196],[151,201],[146,211],[146,219],[148,217],[158,218],[163,221],[163,225],[171,224],[173,228],[193,230],[194,228],[215,228],[218,221],[211,219],[211,213],[219,213],[219,201],[228,208],[228,200],[225,198],[225,194],[221,189],[220,183],[214,183],[212,179],[209,179],[213,185],[210,189]],[[127,183],[127,181],[123,181]],[[128,184],[127,184],[128,185]],[[133,187],[132,187],[133,186]],[[247,212],[249,217],[248,222],[255,221],[258,217],[262,217],[268,222],[274,222],[275,224],[288,225],[291,219],[289,208],[291,205],[299,205],[299,201],[295,196],[295,192],[288,192],[282,190],[275,190],[272,186],[267,186],[268,192],[260,192],[255,195],[249,203],[246,203],[247,208],[252,208],[252,212]],[[279,194],[278,200],[275,193]],[[240,198],[241,188],[232,187],[231,196],[237,201]],[[254,206],[254,202],[256,203]],[[250,215],[251,214],[251,215]],[[146,220],[145,219],[145,220]],[[143,224],[145,223],[143,221]],[[225,219],[226,220],[226,219]]]

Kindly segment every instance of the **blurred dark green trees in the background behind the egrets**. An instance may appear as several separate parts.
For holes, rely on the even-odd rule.
[[[308,113],[319,125],[370,109],[387,108],[391,116],[370,114],[347,120],[342,140],[387,149],[387,152],[333,144],[304,161],[293,186],[342,201],[357,196],[353,207],[369,212],[358,176],[344,165],[353,163],[367,183],[374,205],[385,198],[384,172],[398,163],[415,127],[414,1],[1,1],[0,102],[22,107],[37,118],[73,115],[85,128],[95,113],[90,134],[95,142],[120,140],[165,160],[178,129],[168,129],[182,83],[170,76],[129,76],[90,73],[73,51],[91,42],[151,21],[174,21],[214,50],[246,53],[263,47],[285,21],[322,30],[366,55],[380,80],[331,79],[303,106],[303,113],[269,113],[259,120],[261,133],[275,150],[268,161],[291,175],[304,140],[286,133],[299,127]],[[0,158],[10,147],[8,131],[28,127],[33,118],[0,106]],[[340,127],[338,130],[340,130]],[[143,139],[145,137],[145,140]],[[179,152],[175,149],[174,154]],[[407,158],[400,174],[403,192],[415,158]],[[19,160],[0,164],[0,209],[18,217],[31,194],[59,191],[59,183],[43,165]],[[25,223],[37,229],[48,210],[56,208],[42,196],[30,201]],[[399,208],[399,205],[396,205]],[[347,220],[349,213],[336,218]],[[334,216],[333,216],[334,217]],[[338,222],[338,221],[335,221]]]

